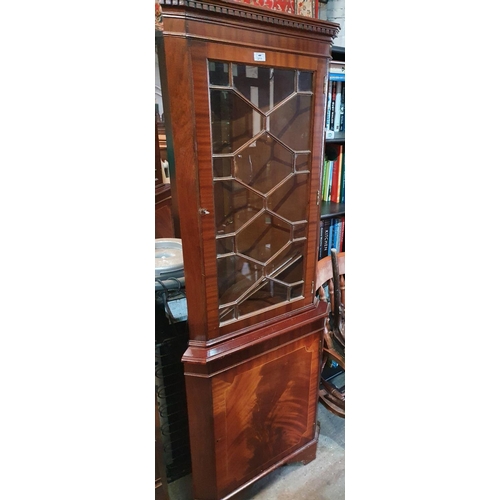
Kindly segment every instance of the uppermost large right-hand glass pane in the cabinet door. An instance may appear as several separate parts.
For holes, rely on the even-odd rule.
[[[312,96],[296,94],[271,113],[270,132],[295,151],[310,150]]]

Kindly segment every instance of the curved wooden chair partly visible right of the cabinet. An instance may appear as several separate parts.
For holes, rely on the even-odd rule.
[[[322,258],[316,270],[316,295],[329,303],[323,332],[320,402],[345,418],[345,252]]]

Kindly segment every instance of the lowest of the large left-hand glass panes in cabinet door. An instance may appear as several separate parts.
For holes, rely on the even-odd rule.
[[[262,277],[262,266],[238,255],[217,259],[219,304],[230,304]]]

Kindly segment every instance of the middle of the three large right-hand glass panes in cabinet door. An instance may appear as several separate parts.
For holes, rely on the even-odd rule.
[[[308,207],[297,200],[306,200],[308,189],[309,175],[294,175],[269,195],[267,207],[291,222],[306,220]]]

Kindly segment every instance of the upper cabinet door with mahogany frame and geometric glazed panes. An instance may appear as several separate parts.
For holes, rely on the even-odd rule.
[[[313,304],[326,64],[185,43],[195,168],[182,165],[176,187],[190,270],[203,279],[196,299],[186,287],[191,339],[210,342]]]

